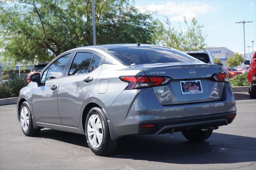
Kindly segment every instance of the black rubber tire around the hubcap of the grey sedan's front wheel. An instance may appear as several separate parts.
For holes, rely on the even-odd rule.
[[[28,117],[29,117],[29,124],[28,124],[28,130],[24,130],[22,128],[22,124],[21,124],[21,112],[22,112],[22,108],[25,107],[28,110]],[[30,108],[28,106],[28,102],[23,102],[20,106],[20,126],[21,126],[21,130],[22,132],[26,135],[26,136],[37,136],[40,133],[41,128],[34,128],[33,126],[33,120],[32,120],[32,115],[30,112]]]

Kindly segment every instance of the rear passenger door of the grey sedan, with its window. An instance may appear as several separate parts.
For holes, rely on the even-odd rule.
[[[101,71],[102,58],[89,52],[77,52],[66,77],[60,82],[58,108],[62,125],[78,127],[82,106]]]

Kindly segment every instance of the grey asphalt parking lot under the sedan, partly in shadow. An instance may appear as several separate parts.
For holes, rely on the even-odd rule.
[[[188,142],[180,132],[126,136],[107,157],[94,155],[80,134],[43,129],[26,137],[16,105],[0,106],[0,169],[255,170],[256,100],[237,99],[234,122],[205,142]]]

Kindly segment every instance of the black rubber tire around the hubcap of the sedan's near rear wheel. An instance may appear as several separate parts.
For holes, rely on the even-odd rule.
[[[93,114],[97,115],[100,118],[100,121],[102,123],[102,128],[103,128],[103,130],[102,130],[102,134],[103,134],[102,143],[100,144],[100,146],[98,148],[94,148],[90,144],[88,134],[87,134],[87,125],[88,125],[88,122],[89,122],[89,118]],[[116,150],[116,147],[118,145],[118,141],[117,140],[111,140],[110,132],[109,132],[109,128],[108,128],[108,122],[107,122],[106,116],[105,116],[105,114],[104,114],[104,112],[101,108],[94,107],[89,111],[89,113],[86,117],[86,122],[85,122],[84,126],[85,126],[84,129],[85,129],[85,136],[86,136],[87,144],[88,144],[89,148],[92,150],[92,152],[94,154],[104,156],[104,155],[112,154]],[[98,139],[97,139],[97,141],[98,141]]]

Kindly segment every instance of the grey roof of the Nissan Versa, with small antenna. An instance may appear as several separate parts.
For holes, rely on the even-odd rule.
[[[170,47],[166,47],[166,46],[158,46],[158,45],[153,45],[153,44],[104,44],[104,45],[96,45],[96,46],[85,46],[85,47],[78,47],[78,48],[74,48],[72,50],[82,50],[82,49],[99,49],[99,48],[104,48],[105,50],[111,50],[111,49],[115,49],[115,48],[128,48],[128,47],[163,47],[163,48],[170,48]]]

